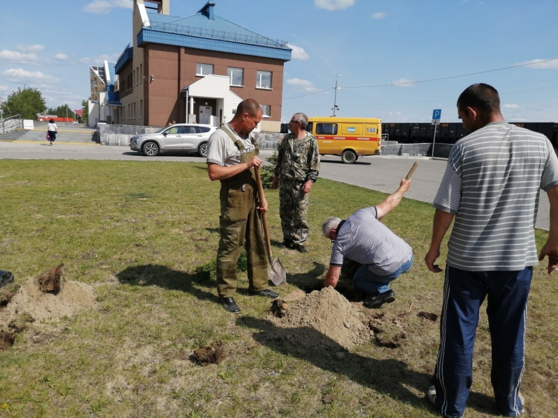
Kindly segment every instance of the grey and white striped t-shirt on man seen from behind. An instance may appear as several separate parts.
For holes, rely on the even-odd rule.
[[[558,159],[542,134],[494,122],[451,149],[433,206],[455,215],[448,265],[522,270],[538,264],[538,189],[558,185]]]

